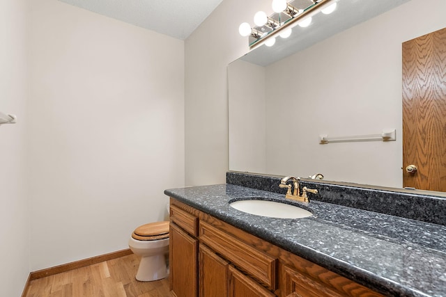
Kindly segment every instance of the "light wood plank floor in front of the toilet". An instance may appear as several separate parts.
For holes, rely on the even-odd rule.
[[[32,280],[26,297],[165,297],[169,280],[138,282],[137,255]]]

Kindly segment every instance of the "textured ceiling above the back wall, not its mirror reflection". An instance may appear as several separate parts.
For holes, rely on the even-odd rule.
[[[185,40],[222,0],[59,0]]]

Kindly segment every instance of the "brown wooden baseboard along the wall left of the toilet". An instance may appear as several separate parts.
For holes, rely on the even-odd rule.
[[[25,289],[26,290],[28,289],[28,283],[31,282],[31,280],[37,280],[38,278],[45,278],[45,276],[54,275],[57,273],[62,273],[62,272],[70,271],[70,270],[77,269],[77,268],[82,268],[82,267],[93,265],[93,264],[98,264],[100,262],[108,261],[111,259],[116,259],[119,257],[124,257],[124,256],[130,255],[130,254],[132,254],[132,251],[130,250],[130,248],[127,248],[125,250],[118,250],[117,252],[110,252],[109,254],[105,254],[105,255],[95,256],[95,257],[91,257],[88,259],[79,260],[76,262],[71,262],[71,263],[62,264],[59,266],[45,268],[45,269],[42,269],[39,271],[33,271],[33,272],[29,273],[29,278],[28,278],[28,281],[26,282]]]

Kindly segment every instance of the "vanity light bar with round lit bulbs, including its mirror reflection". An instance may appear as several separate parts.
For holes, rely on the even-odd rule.
[[[238,31],[242,36],[249,36],[249,48],[266,44],[268,47],[275,44],[275,35],[288,38],[291,35],[291,28],[299,25],[302,28],[312,23],[312,16],[322,11],[325,15],[332,13],[337,8],[337,2],[341,0],[309,0],[311,4],[307,8],[296,8],[286,0],[272,0],[272,10],[275,13],[268,16],[263,11],[254,15],[252,28],[248,23],[240,25]],[[274,39],[274,40],[273,40]]]

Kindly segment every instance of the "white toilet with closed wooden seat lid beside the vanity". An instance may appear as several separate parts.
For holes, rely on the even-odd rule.
[[[150,282],[167,278],[166,255],[169,253],[169,221],[137,227],[128,241],[130,250],[141,256],[136,279]]]

